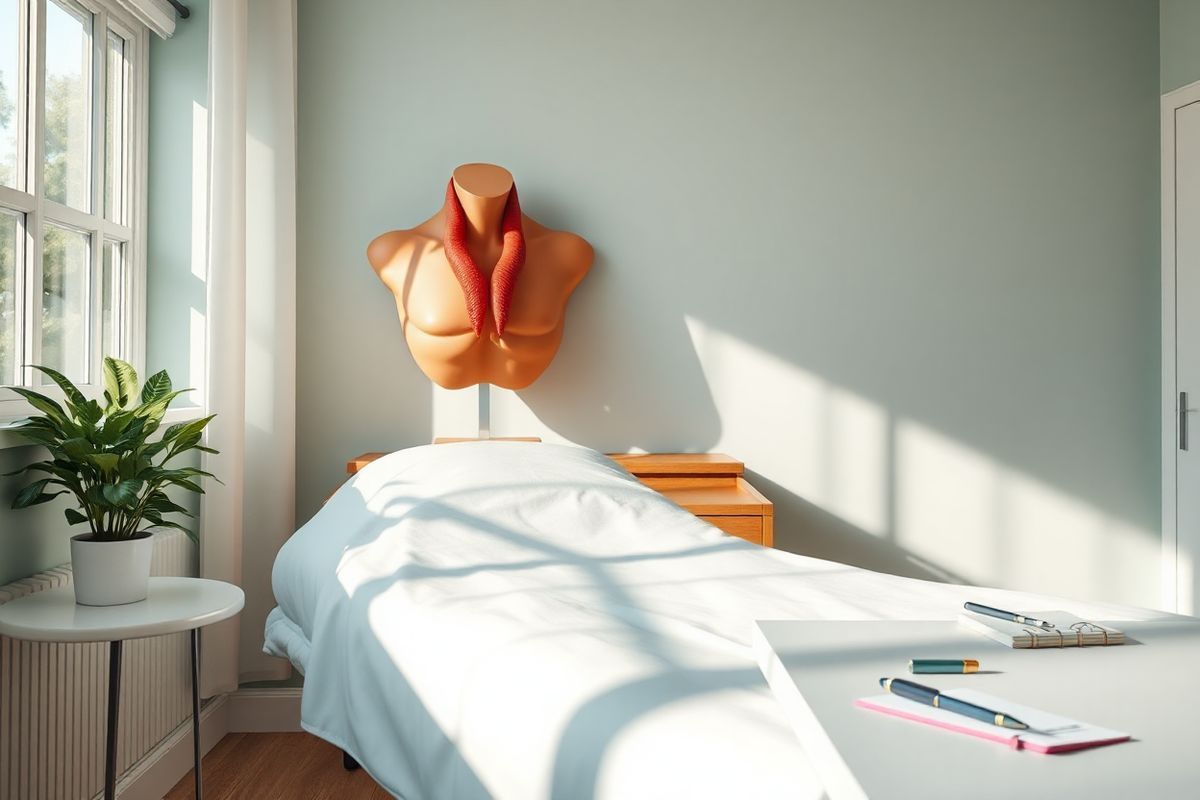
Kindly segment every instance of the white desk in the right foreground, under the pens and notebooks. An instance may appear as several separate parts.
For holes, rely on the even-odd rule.
[[[1133,642],[1013,650],[955,622],[761,621],[760,667],[834,800],[1183,798],[1200,792],[1200,621],[1115,622]],[[1044,756],[854,708],[910,658],[994,674],[918,675],[1106,728],[1133,741]]]

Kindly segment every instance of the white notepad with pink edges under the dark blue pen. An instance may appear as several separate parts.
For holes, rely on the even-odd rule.
[[[967,703],[974,703],[986,709],[996,709],[1012,715],[1030,726],[1028,730],[1014,732],[998,726],[979,722],[971,717],[954,714],[932,705],[896,697],[895,694],[877,694],[854,700],[854,705],[882,711],[892,716],[904,717],[913,722],[924,722],[955,733],[965,733],[980,739],[990,739],[1014,750],[1032,750],[1036,753],[1067,753],[1073,750],[1099,747],[1127,741],[1129,734],[1109,728],[1099,728],[1078,720],[1049,714],[1027,705],[1018,705],[1003,698],[986,694],[973,688],[955,688],[944,692]]]

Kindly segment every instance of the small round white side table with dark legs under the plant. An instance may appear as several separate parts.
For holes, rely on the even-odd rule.
[[[150,578],[145,600],[124,606],[77,606],[71,587],[47,589],[0,604],[0,633],[32,642],[108,642],[108,727],[104,736],[104,800],[116,796],[116,711],[121,692],[121,643],[190,631],[192,639],[192,736],[196,798],[202,796],[199,630],[241,610],[238,587],[203,578]]]

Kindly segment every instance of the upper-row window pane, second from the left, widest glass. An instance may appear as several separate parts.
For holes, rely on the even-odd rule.
[[[46,4],[46,197],[90,211],[91,14]]]

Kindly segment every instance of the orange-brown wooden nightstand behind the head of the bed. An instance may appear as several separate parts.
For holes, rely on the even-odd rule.
[[[346,463],[346,471],[354,475],[386,455],[362,453]],[[775,543],[775,506],[742,476],[745,464],[736,458],[722,453],[616,453],[608,457],[642,483],[726,534],[764,547]]]

